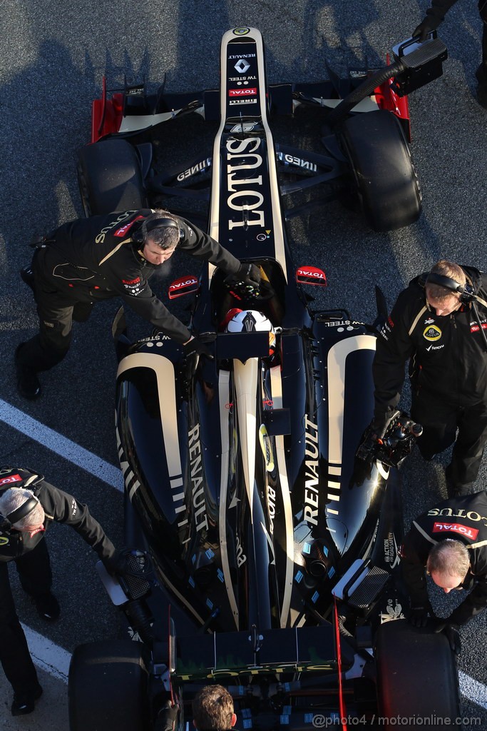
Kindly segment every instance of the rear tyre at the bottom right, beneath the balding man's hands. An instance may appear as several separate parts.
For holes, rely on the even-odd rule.
[[[435,716],[435,729],[455,726],[460,714],[455,656],[447,637],[419,630],[404,619],[381,624],[375,639],[379,715],[384,727],[415,728],[415,721]],[[437,723],[436,723],[437,721]]]

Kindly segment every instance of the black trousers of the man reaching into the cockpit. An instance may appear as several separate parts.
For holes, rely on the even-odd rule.
[[[45,250],[37,251],[32,260],[34,295],[39,315],[39,334],[18,351],[18,362],[32,371],[48,371],[63,360],[71,344],[73,319],[88,319],[93,303],[79,302],[69,292],[55,289],[44,276],[42,263]]]

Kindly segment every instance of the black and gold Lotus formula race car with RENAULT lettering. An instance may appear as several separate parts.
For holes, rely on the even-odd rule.
[[[126,88],[93,106],[79,160],[86,213],[206,197],[209,232],[258,266],[261,287],[233,286],[212,265],[172,284],[173,297],[197,290],[191,327],[213,360],[194,372],[175,342],[131,343],[122,313],[114,323],[126,543],[137,550],[119,581],[99,571],[139,641],[76,649],[71,731],[163,728],[168,700],[182,729],[215,681],[240,728],[409,727],[432,714],[441,728],[459,716],[448,640],[404,621],[397,575],[396,468],[417,430],[397,412],[356,457],[375,328],[312,311],[303,284],[326,276],[294,268],[285,234],[283,194],[311,186],[355,197],[377,230],[418,217],[402,95],[439,75],[445,48],[434,37],[398,48],[340,99],[336,79],[268,86],[261,34],[236,28],[223,36],[220,90]],[[326,154],[275,145],[269,114],[299,105],[323,113]],[[218,118],[212,155],[164,172],[164,128],[189,113]]]

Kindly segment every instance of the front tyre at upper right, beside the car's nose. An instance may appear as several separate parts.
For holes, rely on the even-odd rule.
[[[393,231],[421,213],[421,191],[399,120],[386,110],[345,120],[342,145],[353,172],[354,194],[370,227]]]

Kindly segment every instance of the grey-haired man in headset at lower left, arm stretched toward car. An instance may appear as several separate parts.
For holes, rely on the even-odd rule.
[[[53,576],[45,531],[66,523],[98,553],[110,572],[125,573],[126,553],[115,550],[88,507],[42,475],[22,467],[0,467],[0,662],[14,690],[12,716],[34,711],[42,694],[26,636],[15,611],[7,563],[15,561],[20,584],[39,616],[55,621],[60,613],[51,592]]]

